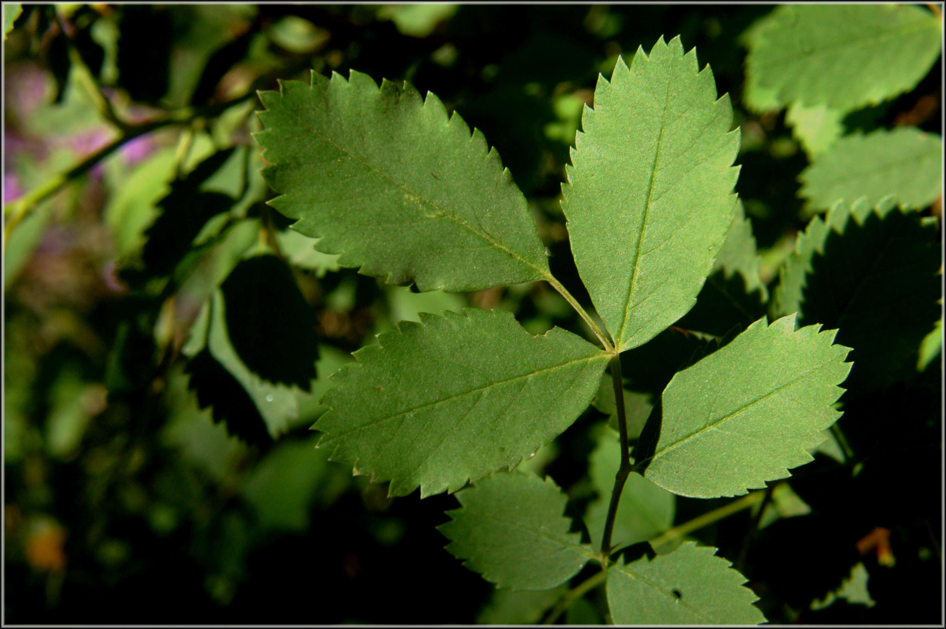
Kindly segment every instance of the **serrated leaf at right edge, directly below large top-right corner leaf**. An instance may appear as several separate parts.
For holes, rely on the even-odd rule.
[[[811,210],[867,197],[873,205],[893,195],[902,207],[922,209],[942,194],[942,138],[915,127],[847,135],[815,158],[798,181]]]

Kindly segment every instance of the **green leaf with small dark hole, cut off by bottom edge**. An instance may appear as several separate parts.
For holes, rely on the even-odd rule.
[[[759,624],[757,597],[716,549],[684,542],[653,560],[607,570],[607,604],[615,624]]]

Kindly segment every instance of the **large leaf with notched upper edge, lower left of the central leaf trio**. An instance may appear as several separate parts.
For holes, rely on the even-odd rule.
[[[608,355],[561,328],[534,337],[512,314],[420,314],[355,353],[315,428],[332,459],[391,480],[391,496],[455,492],[512,468],[568,428]]]

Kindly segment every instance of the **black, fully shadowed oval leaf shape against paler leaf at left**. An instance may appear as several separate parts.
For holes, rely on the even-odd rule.
[[[315,312],[289,266],[272,254],[254,255],[236,265],[220,290],[227,333],[243,364],[264,380],[308,391],[319,338]]]

